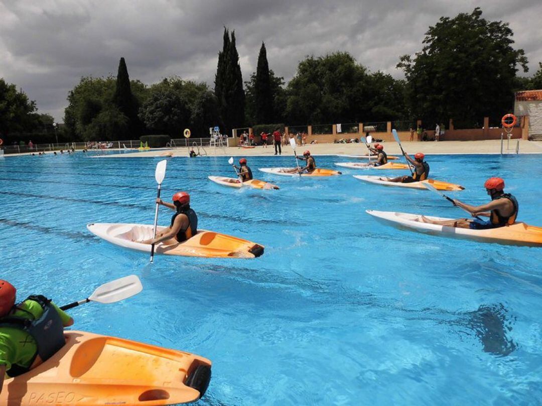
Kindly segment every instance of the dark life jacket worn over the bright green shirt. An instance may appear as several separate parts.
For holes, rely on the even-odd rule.
[[[57,351],[66,344],[64,338],[64,325],[59,313],[51,305],[51,300],[42,295],[28,296],[26,300],[33,300],[42,307],[43,314],[39,319],[25,319],[21,316],[6,316],[0,319],[0,327],[11,327],[21,329],[30,334],[37,345],[36,356],[42,361],[51,358]],[[35,357],[34,357],[35,359]],[[34,359],[30,363],[34,363]],[[8,376],[14,377],[28,372],[29,367],[13,364],[7,371]]]

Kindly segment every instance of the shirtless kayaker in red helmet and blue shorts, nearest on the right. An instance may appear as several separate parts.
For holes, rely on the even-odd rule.
[[[490,177],[483,184],[483,187],[486,188],[487,194],[491,196],[491,201],[488,204],[472,206],[454,199],[454,205],[468,210],[473,217],[489,217],[488,221],[479,219],[434,221],[423,216],[421,217],[421,221],[423,221],[423,223],[433,223],[474,230],[495,229],[496,227],[514,224],[515,219],[518,217],[519,204],[518,200],[513,195],[504,192],[505,181],[500,177]]]

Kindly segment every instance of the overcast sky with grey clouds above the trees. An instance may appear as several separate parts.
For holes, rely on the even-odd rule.
[[[116,75],[121,56],[130,78],[147,85],[179,75],[213,87],[227,26],[243,80],[262,41],[286,80],[306,55],[335,50],[401,78],[399,56],[420,50],[429,26],[476,6],[510,24],[532,75],[542,61],[540,0],[0,0],[0,77],[62,122],[69,90],[82,76]]]

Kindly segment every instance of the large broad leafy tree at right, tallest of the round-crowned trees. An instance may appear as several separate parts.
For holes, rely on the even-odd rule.
[[[511,110],[517,66],[526,72],[527,58],[522,49],[512,48],[507,23],[481,15],[475,8],[471,14],[441,17],[429,27],[421,52],[414,59],[399,59],[417,117],[472,125],[484,116],[500,119]]]

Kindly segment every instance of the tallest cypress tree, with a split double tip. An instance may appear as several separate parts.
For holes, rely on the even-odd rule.
[[[225,133],[244,124],[244,90],[239,54],[235,45],[235,31],[224,27],[222,51],[218,53],[215,75],[215,96],[218,99],[220,115]]]

